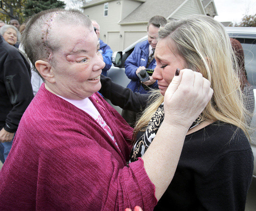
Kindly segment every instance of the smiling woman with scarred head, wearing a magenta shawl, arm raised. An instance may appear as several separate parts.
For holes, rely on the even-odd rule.
[[[76,10],[42,11],[21,40],[45,83],[0,171],[0,210],[153,210],[189,126],[212,96],[209,81],[192,70],[177,72],[155,145],[126,166],[132,128],[97,93],[105,63],[90,19]]]

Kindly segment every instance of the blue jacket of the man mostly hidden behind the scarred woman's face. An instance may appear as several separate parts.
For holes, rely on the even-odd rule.
[[[111,62],[111,56],[113,51],[110,49],[110,47],[104,43],[100,38],[100,53],[103,57],[103,61],[106,63],[106,66],[102,69],[102,75],[107,76],[107,71],[110,69],[112,62]]]

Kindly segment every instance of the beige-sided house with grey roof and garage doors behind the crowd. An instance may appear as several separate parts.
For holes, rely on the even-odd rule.
[[[92,0],[83,9],[98,22],[100,39],[113,51],[122,51],[147,35],[148,20],[155,15],[179,19],[206,14],[201,0]]]

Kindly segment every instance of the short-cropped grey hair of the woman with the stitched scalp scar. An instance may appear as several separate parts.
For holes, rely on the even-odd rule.
[[[21,35],[21,44],[34,66],[37,60],[48,61],[50,54],[60,49],[61,42],[54,33],[56,29],[61,31],[60,25],[92,28],[91,20],[78,10],[56,8],[33,15]],[[51,58],[54,62],[54,55]],[[34,70],[39,74],[36,68]]]

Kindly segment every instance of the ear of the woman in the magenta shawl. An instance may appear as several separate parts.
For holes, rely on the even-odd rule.
[[[48,82],[55,83],[54,74],[52,72],[52,65],[43,60],[37,60],[35,63],[36,70]]]

